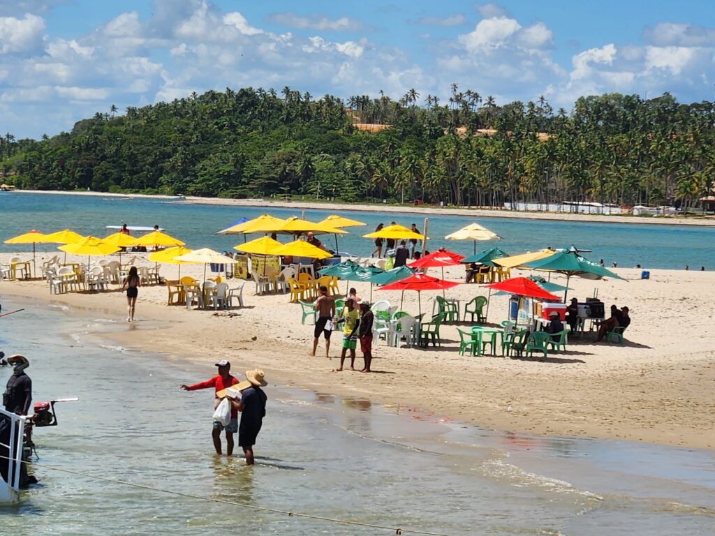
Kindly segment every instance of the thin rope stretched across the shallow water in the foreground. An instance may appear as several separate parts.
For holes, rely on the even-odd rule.
[[[14,458],[10,458],[7,456],[1,456],[1,455],[0,455],[0,459],[14,460]],[[92,478],[94,480],[101,480],[102,482],[111,482],[112,484],[121,484],[124,486],[136,487],[139,490],[149,490],[149,491],[154,491],[154,492],[167,493],[168,495],[176,495],[178,497],[186,497],[188,499],[203,500],[203,501],[208,501],[208,502],[217,502],[222,505],[240,506],[240,507],[244,507],[244,508],[250,508],[251,510],[260,510],[262,512],[272,512],[274,514],[283,514],[283,515],[287,515],[288,517],[302,517],[302,518],[309,519],[309,520],[340,523],[341,525],[356,525],[358,527],[367,527],[367,528],[380,529],[380,530],[390,530],[390,531],[393,531],[395,533],[395,535],[398,535],[398,536],[403,535],[403,534],[416,534],[416,535],[422,535],[422,536],[450,536],[443,532],[426,532],[423,530],[403,529],[402,527],[387,527],[385,525],[373,525],[372,523],[363,523],[360,521],[340,520],[335,517],[323,517],[320,515],[310,515],[310,514],[304,514],[301,512],[290,512],[288,510],[279,510],[277,508],[268,508],[268,507],[264,507],[264,506],[248,505],[245,502],[234,502],[234,501],[229,501],[229,500],[224,500],[224,499],[216,499],[213,497],[202,497],[201,495],[192,495],[191,493],[183,493],[183,492],[177,492],[177,491],[173,491],[173,490],[164,490],[160,487],[147,486],[144,484],[135,484],[134,482],[127,482],[126,480],[117,480],[117,479],[108,478],[108,477],[98,477],[96,475],[89,475],[88,473],[84,473],[84,472],[73,471],[70,469],[63,469],[61,467],[55,467],[54,465],[39,464],[36,462],[31,462],[30,460],[21,460],[21,461],[26,465],[34,465],[36,467],[43,467],[44,469],[50,469],[50,470],[59,471],[59,472],[66,472],[69,475],[77,475],[80,477]]]

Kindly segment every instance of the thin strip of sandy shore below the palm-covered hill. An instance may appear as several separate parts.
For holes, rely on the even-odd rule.
[[[224,199],[221,197],[196,197],[161,194],[113,194],[109,192],[61,192],[56,190],[15,190],[11,193],[21,194],[53,194],[53,195],[77,195],[86,197],[139,197],[142,199],[167,199],[176,200],[190,204],[205,204],[227,207],[276,207],[285,209],[314,209],[325,211],[350,211],[350,212],[388,212],[403,214],[422,215],[442,215],[442,216],[463,216],[479,218],[506,218],[506,219],[541,219],[549,221],[563,221],[567,219],[571,222],[587,223],[615,223],[634,225],[687,225],[696,227],[713,227],[714,219],[668,219],[661,217],[636,217],[620,216],[609,214],[573,214],[570,212],[515,212],[499,209],[478,209],[478,208],[450,208],[450,207],[400,207],[391,204],[341,204],[333,202],[284,202],[273,201],[271,199]]]

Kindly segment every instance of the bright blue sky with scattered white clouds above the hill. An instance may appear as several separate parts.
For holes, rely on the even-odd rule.
[[[16,139],[192,91],[445,102],[454,83],[567,111],[611,92],[715,101],[715,2],[0,0],[0,132]]]

